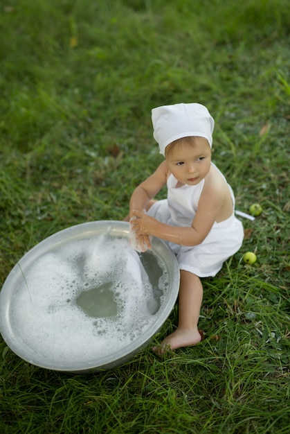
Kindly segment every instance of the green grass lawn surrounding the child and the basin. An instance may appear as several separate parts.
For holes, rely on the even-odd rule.
[[[0,340],[1,433],[289,433],[288,1],[7,0],[0,22],[0,284],[60,229],[123,219],[162,161],[158,105],[207,105],[237,209],[263,207],[203,279],[197,347],[75,376]]]

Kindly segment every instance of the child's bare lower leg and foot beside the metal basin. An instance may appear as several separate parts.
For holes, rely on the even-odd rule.
[[[203,288],[197,275],[181,270],[179,288],[179,324],[173,333],[161,342],[161,349],[155,347],[156,352],[163,352],[165,347],[176,349],[189,347],[201,341],[197,328],[199,312],[203,297]]]

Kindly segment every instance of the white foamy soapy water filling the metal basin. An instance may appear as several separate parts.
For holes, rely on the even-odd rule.
[[[78,240],[25,270],[11,321],[35,354],[58,363],[97,360],[129,345],[162,311],[167,271],[125,238]]]

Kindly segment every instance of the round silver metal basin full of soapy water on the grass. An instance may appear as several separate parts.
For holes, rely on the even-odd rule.
[[[0,332],[25,361],[84,374],[117,367],[148,345],[172,311],[179,266],[158,238],[138,254],[129,224],[95,221],[35,245],[0,292]]]

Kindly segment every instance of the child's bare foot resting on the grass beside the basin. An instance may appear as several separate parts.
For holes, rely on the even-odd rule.
[[[153,347],[156,354],[164,354],[167,349],[176,349],[181,347],[190,347],[197,345],[201,341],[201,333],[199,330],[176,329],[173,333],[167,336],[158,347]]]

